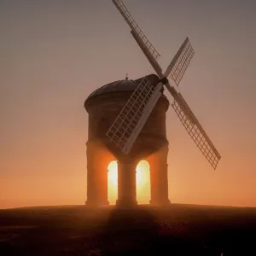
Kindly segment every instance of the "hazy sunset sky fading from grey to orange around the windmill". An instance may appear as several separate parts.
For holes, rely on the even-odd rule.
[[[256,207],[256,2],[124,2],[163,69],[189,36],[180,91],[223,157],[214,171],[170,108],[171,201]],[[154,71],[110,0],[0,0],[0,33],[0,208],[84,204],[85,98]]]

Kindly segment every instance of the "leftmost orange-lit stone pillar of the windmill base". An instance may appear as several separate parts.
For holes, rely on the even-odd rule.
[[[87,201],[86,206],[108,205],[108,152],[102,143],[88,141],[87,145]]]

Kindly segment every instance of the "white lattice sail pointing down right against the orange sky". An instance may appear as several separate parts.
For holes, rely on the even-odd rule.
[[[172,108],[177,113],[177,117],[184,128],[188,131],[189,136],[201,150],[201,153],[204,154],[211,166],[216,169],[221,156],[180,93],[177,94],[172,103]]]

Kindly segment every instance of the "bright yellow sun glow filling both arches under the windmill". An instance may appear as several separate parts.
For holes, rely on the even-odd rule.
[[[146,160],[141,160],[136,167],[137,202],[148,203],[150,200],[150,172]],[[108,201],[115,204],[118,195],[118,164],[113,160],[108,165]]]

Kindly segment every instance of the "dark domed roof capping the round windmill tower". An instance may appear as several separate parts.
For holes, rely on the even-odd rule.
[[[143,78],[141,79],[137,79],[137,80],[118,80],[109,84],[105,84],[102,87],[98,88],[97,90],[93,91],[90,96],[87,97],[87,99],[85,100],[84,104],[89,101],[91,98],[95,97],[95,96],[99,96],[105,93],[109,93],[109,92],[120,92],[120,91],[134,91],[137,88],[137,85],[141,82]],[[158,76],[156,76],[155,74],[150,74],[147,76],[147,79],[152,83],[155,84],[159,78]],[[164,98],[166,98],[166,96],[164,96],[162,94],[162,96]],[[167,99],[167,98],[166,98]]]

